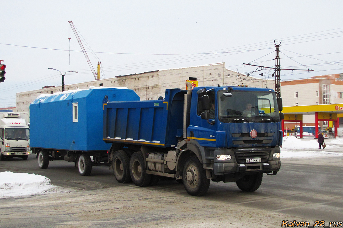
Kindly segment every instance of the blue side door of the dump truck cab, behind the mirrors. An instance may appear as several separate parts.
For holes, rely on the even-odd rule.
[[[217,102],[215,91],[211,90],[207,93],[210,98],[210,119],[204,120],[201,119],[201,113],[205,110],[201,107],[201,94],[194,97],[196,99],[191,105],[190,113],[190,126],[188,131],[188,138],[195,139],[201,146],[215,147],[215,133],[218,124],[217,117]]]

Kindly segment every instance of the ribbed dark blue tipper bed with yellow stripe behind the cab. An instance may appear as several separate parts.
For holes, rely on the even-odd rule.
[[[168,89],[164,100],[111,102],[104,100],[104,141],[173,147],[182,137],[184,94]]]

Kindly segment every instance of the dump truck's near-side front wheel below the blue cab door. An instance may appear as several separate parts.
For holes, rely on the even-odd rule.
[[[191,196],[203,196],[210,187],[205,169],[196,156],[191,156],[184,165],[182,180],[187,193]]]

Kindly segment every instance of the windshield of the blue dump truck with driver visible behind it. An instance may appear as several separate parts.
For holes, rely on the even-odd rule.
[[[276,96],[272,92],[230,91],[231,97],[225,97],[226,90],[218,91],[218,118],[228,122],[279,122],[279,110]]]

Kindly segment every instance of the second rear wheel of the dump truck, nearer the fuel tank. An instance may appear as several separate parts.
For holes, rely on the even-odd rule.
[[[145,162],[142,152],[134,152],[130,158],[130,175],[133,184],[139,187],[149,185],[151,174],[147,174],[145,171]]]

